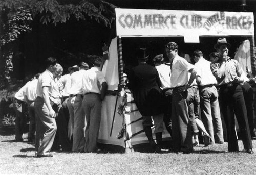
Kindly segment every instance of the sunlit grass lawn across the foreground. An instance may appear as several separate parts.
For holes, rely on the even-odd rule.
[[[243,152],[242,141],[238,153],[225,153],[225,142],[200,145],[187,155],[167,150],[162,154],[52,152],[52,158],[36,158],[33,143],[14,142],[13,133],[0,134],[0,174],[256,174],[256,153]]]

